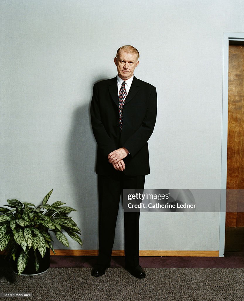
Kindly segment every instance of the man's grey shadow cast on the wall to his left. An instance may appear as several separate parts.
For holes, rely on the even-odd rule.
[[[92,133],[90,102],[74,111],[67,149],[83,249],[98,249],[97,146]]]

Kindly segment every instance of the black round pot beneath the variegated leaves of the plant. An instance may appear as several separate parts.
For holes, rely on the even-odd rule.
[[[18,274],[17,261],[18,261],[19,254],[22,251],[23,250],[21,249],[20,252],[18,252],[15,261],[13,259],[11,259],[11,264],[12,264],[13,271],[17,274]],[[41,273],[46,272],[48,270],[48,268],[50,267],[50,249],[46,248],[46,253],[43,256],[43,258],[41,258],[41,254],[39,253],[38,250],[36,250],[36,254],[37,254],[37,257],[39,259],[39,268],[38,268],[38,270],[36,271],[36,268],[35,268],[35,255],[34,255],[34,250],[31,248],[29,250],[29,258],[28,258],[26,268],[24,269],[24,271],[20,275],[38,275],[38,274],[41,274]]]

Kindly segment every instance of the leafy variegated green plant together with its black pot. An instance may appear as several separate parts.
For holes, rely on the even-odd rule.
[[[80,229],[67,216],[71,211],[77,210],[62,206],[65,203],[61,201],[47,204],[52,192],[53,190],[44,197],[38,207],[18,200],[8,200],[8,205],[4,205],[12,209],[0,207],[0,251],[6,250],[6,257],[15,262],[18,275],[37,274],[49,268],[50,251],[47,250],[51,249],[55,254],[50,232],[66,247],[69,247],[69,243],[62,229],[82,245],[78,236]],[[46,266],[43,267],[41,261],[45,258]],[[34,272],[28,271],[30,265],[34,267]]]

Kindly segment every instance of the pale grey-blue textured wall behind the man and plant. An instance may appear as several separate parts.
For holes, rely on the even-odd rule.
[[[140,52],[137,78],[158,92],[145,188],[220,189],[223,32],[244,32],[242,1],[2,0],[0,11],[1,205],[38,204],[53,188],[50,201],[79,210],[83,249],[98,248],[89,104],[125,44]],[[218,250],[218,213],[140,220],[141,250]],[[114,249],[122,225],[120,210]]]

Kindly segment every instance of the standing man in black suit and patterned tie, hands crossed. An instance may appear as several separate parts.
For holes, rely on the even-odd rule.
[[[92,276],[110,266],[119,201],[123,189],[144,189],[149,174],[147,141],[157,111],[156,88],[134,76],[139,52],[130,45],[118,49],[118,76],[94,85],[92,129],[98,144],[96,173],[99,194],[99,255]],[[123,195],[123,193],[122,193]],[[144,278],[139,265],[139,212],[124,213],[125,268]]]

